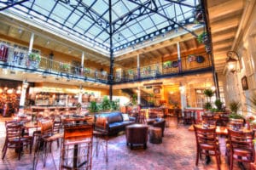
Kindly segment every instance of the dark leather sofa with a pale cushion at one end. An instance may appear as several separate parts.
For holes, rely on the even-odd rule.
[[[134,117],[122,112],[101,113],[95,116],[95,130],[107,135],[114,135],[125,131],[127,125],[135,123]]]

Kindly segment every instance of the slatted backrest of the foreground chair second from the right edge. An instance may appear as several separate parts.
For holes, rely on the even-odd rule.
[[[216,127],[202,128],[194,125],[196,144],[212,144],[217,147]],[[217,148],[215,148],[217,149]]]

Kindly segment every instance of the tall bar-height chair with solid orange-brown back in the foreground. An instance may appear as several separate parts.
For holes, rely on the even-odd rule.
[[[60,169],[91,169],[93,126],[64,127]]]

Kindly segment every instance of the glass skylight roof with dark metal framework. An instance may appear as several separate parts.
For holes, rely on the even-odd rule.
[[[56,31],[117,52],[177,28],[196,36],[187,26],[194,24],[198,4],[197,0],[3,0],[0,11],[40,20]]]

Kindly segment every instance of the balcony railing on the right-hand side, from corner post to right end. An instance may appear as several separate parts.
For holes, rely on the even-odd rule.
[[[131,82],[148,78],[171,77],[172,75],[189,74],[195,71],[205,71],[206,69],[212,69],[210,55],[194,54],[184,56],[180,60],[143,66],[139,69],[140,74],[138,74],[137,68],[125,70],[122,73],[117,72],[114,81]]]

